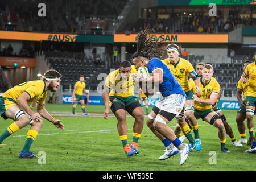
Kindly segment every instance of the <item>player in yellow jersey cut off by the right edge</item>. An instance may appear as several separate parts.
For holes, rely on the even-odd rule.
[[[256,61],[256,60],[255,60]],[[256,134],[254,136],[253,141],[253,116],[255,111],[255,104],[256,104],[256,63],[255,61],[245,68],[245,71],[243,72],[243,75],[241,77],[241,81],[243,84],[249,80],[248,90],[247,90],[247,96],[246,96],[246,118],[247,118],[247,127],[249,127],[249,133],[250,137],[248,139],[247,144],[253,145],[250,149],[247,150],[247,152],[256,152]]]

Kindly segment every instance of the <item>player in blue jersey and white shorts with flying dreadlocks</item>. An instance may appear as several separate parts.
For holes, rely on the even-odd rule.
[[[140,78],[135,76],[133,80],[139,82],[142,92],[148,97],[149,93],[148,88],[154,85],[159,85],[159,91],[163,96],[163,99],[160,101],[161,105],[159,110],[156,111],[156,117],[154,118],[154,134],[158,133],[164,138],[168,139],[173,146],[177,147],[180,152],[180,164],[188,158],[189,150],[191,146],[189,144],[182,143],[179,138],[176,137],[174,131],[167,126],[176,115],[179,115],[181,110],[183,110],[185,104],[186,95],[181,88],[179,82],[176,80],[174,75],[171,73],[170,69],[160,61],[159,57],[162,59],[163,50],[159,46],[160,42],[152,38],[148,38],[148,31],[143,30],[139,32],[137,40],[137,52],[133,55],[133,64],[135,69],[138,69],[141,66],[148,68],[148,71],[152,73],[152,76],[148,78]],[[146,88],[143,86],[147,84]]]

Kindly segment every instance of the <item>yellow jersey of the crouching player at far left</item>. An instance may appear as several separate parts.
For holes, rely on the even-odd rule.
[[[12,98],[18,104],[17,99],[23,92],[27,92],[30,95],[30,100],[27,101],[28,104],[37,102],[40,105],[44,105],[47,92],[46,83],[42,80],[28,81],[16,85],[7,90],[5,93],[1,94],[1,97]]]

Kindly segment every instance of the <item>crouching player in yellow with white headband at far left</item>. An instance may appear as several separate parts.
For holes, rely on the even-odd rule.
[[[44,73],[44,79],[28,81],[14,86],[0,96],[0,114],[4,119],[13,119],[7,130],[0,136],[0,144],[4,139],[16,131],[30,124],[27,139],[19,158],[38,158],[30,151],[32,142],[43,125],[43,119],[52,122],[58,129],[63,130],[64,125],[60,120],[53,118],[44,107],[47,91],[56,92],[60,85],[61,74],[53,69]],[[31,110],[28,104],[36,102],[36,110]]]

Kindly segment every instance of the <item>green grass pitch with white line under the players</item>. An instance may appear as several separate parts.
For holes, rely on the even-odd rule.
[[[249,146],[235,147],[232,145],[229,136],[226,135],[226,147],[230,150],[230,153],[221,152],[217,129],[201,121],[201,119],[199,120],[199,134],[203,147],[201,151],[191,152],[183,166],[180,166],[179,154],[167,160],[158,160],[159,156],[164,153],[165,147],[146,126],[146,117],[142,135],[139,139],[140,153],[129,157],[123,151],[122,143],[119,140],[117,119],[110,117],[105,120],[102,114],[105,109],[103,105],[86,105],[85,108],[88,113],[99,113],[98,116],[79,117],[81,109],[78,105],[76,109],[77,117],[73,117],[71,115],[72,105],[47,104],[46,109],[55,118],[63,121],[65,129],[59,131],[52,123],[44,119],[42,130],[32,144],[31,151],[35,155],[39,155],[40,151],[43,151],[45,160],[18,158],[29,129],[29,126],[26,126],[4,140],[3,143],[6,145],[0,146],[0,170],[247,171],[256,168],[255,154],[244,152]],[[55,112],[59,112],[60,115]],[[239,140],[240,135],[235,121],[236,111],[224,110],[223,112],[233,129],[236,139]],[[1,118],[0,134],[13,122],[11,119],[4,121]],[[128,141],[130,144],[133,140],[133,123],[134,118],[127,117]],[[172,129],[175,125],[176,119],[168,124]],[[248,138],[248,136],[249,132],[246,129],[246,137]],[[185,143],[188,143],[188,141],[186,140]],[[216,164],[213,163],[212,158],[216,159]]]

